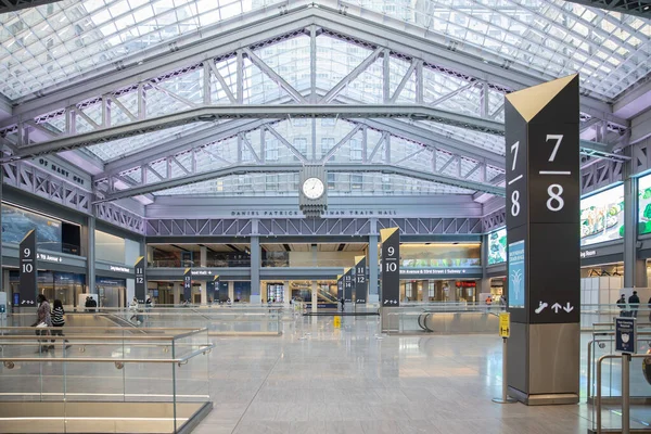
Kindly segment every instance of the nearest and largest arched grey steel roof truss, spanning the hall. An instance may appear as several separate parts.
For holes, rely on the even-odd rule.
[[[146,77],[140,81],[135,80],[127,84],[116,79],[115,87],[113,88],[106,88],[97,82],[99,88],[98,92],[100,92],[99,94],[89,93],[86,89],[91,86],[86,84],[86,86],[82,87],[84,90],[78,93],[73,92],[73,94],[71,94],[69,91],[63,92],[67,98],[61,100],[59,103],[52,101],[52,98],[48,98],[48,101],[51,101],[48,104],[39,105],[26,103],[25,108],[18,105],[14,110],[14,113],[17,113],[17,116],[14,116],[9,122],[0,123],[0,125],[4,127],[0,129],[0,135],[10,138],[18,148],[15,155],[16,157],[28,157],[49,152],[75,149],[92,143],[102,143],[108,140],[131,137],[133,135],[155,131],[193,122],[241,117],[278,118],[301,114],[315,116],[343,116],[348,118],[401,117],[410,119],[429,119],[446,125],[501,135],[503,133],[503,125],[500,122],[496,122],[495,118],[503,107],[499,107],[498,111],[494,113],[487,113],[487,92],[497,91],[503,93],[508,90],[537,82],[536,79],[527,77],[522,73],[505,71],[486,64],[482,66],[483,62],[472,61],[471,59],[467,59],[467,55],[459,53],[452,54],[449,50],[447,52],[445,52],[445,50],[442,51],[441,48],[432,43],[430,43],[431,47],[427,47],[427,44],[423,43],[424,41],[421,38],[405,31],[397,33],[397,30],[388,28],[385,25],[371,23],[360,25],[357,20],[340,15],[335,11],[330,11],[327,8],[302,9],[297,11],[296,14],[296,22],[288,22],[288,20],[283,18],[281,15],[281,17],[275,18],[278,20],[277,27],[269,24],[273,22],[273,20],[267,23],[267,31],[258,31],[257,28],[251,25],[245,26],[237,33],[234,39],[229,38],[230,42],[228,44],[221,43],[215,48],[214,43],[207,43],[208,40],[202,41],[200,44],[201,49],[197,49],[196,47],[193,48],[192,55],[188,59],[179,54],[179,52],[175,52],[171,56],[168,55],[157,62],[157,65],[162,66],[152,66],[151,69],[144,69],[141,74],[136,76],[133,75],[135,71],[127,71],[120,75],[124,75],[125,77]],[[376,42],[376,35],[380,30],[384,34],[388,33],[395,35],[393,35],[392,38],[384,35],[381,42]],[[256,37],[256,33],[258,33],[259,36]],[[312,79],[310,80],[311,89],[308,89],[307,92],[309,93],[308,98],[308,95],[304,94],[305,89],[293,89],[254,53],[255,49],[272,44],[279,40],[293,38],[298,35],[308,35],[311,38],[315,38],[320,34],[327,34],[330,37],[344,39],[348,42],[358,43],[373,50],[372,54],[367,60],[332,89],[328,90],[324,95],[317,95],[315,89],[316,80],[314,79],[314,76],[317,73],[316,71],[310,72]],[[233,49],[233,47],[242,48]],[[418,49],[414,50],[414,47],[418,47]],[[441,56],[443,56],[443,59]],[[345,89],[347,84],[362,74],[380,58],[386,60],[395,58],[411,63],[411,67],[405,74],[400,86],[398,86],[395,92],[390,94],[388,90],[385,90],[382,106],[372,107],[365,104],[365,108],[354,106],[342,107],[336,104],[333,106],[328,105],[329,102],[334,102],[336,100],[337,95]],[[173,59],[177,60],[173,61]],[[180,61],[178,59],[180,59]],[[197,61],[196,59],[201,59],[201,61]],[[219,72],[215,68],[216,62],[228,59],[237,59],[238,65],[241,64],[243,59],[248,59],[271,80],[276,81],[278,86],[298,104],[290,107],[263,106],[264,110],[243,104],[241,90],[244,87],[244,76],[242,67],[238,67],[235,82],[237,90],[234,92],[230,90],[228,86],[224,86],[224,77],[221,77]],[[194,63],[182,64],[183,61],[192,62],[192,60],[194,60]],[[439,62],[443,62],[443,64]],[[468,62],[467,66],[463,66],[463,62]],[[383,63],[385,69],[383,74],[385,77],[388,77],[390,61]],[[448,64],[452,64],[459,69],[449,67],[447,66]],[[424,92],[424,87],[422,86],[423,68],[430,68],[436,73],[447,74],[454,77],[462,77],[464,80],[468,80],[468,85],[439,98],[432,106],[424,106],[422,105]],[[204,82],[201,84],[204,91],[202,103],[197,104],[196,102],[189,101],[178,93],[161,86],[161,84],[166,80],[187,75],[196,69],[204,71]],[[116,75],[119,74],[116,73]],[[210,105],[212,85],[209,79],[206,80],[206,77],[210,76],[214,76],[217,81],[222,85],[221,89],[228,94],[229,102],[234,105],[229,107]],[[417,91],[413,103],[419,106],[396,105],[395,102],[397,95],[400,94],[405,84],[411,77],[416,77],[417,81]],[[518,79],[520,79],[520,81]],[[435,107],[443,101],[473,88],[480,88],[484,94],[476,104],[476,116],[459,115]],[[385,86],[385,89],[387,89],[387,86]],[[165,116],[149,117],[146,101],[148,93],[151,92],[163,92],[171,99],[180,101],[186,105],[187,110]],[[129,93],[137,94],[138,104],[136,110],[129,110],[120,102],[120,98]],[[310,104],[305,104],[308,100],[311,102],[311,106]],[[585,112],[587,113],[587,115],[584,116],[586,120],[589,120],[592,117],[604,117],[605,120],[610,123],[609,126],[611,129],[621,131],[626,127],[626,122],[617,119],[609,114],[611,110],[608,104],[597,100],[585,98],[584,100],[589,101],[589,103],[584,104]],[[64,105],[63,101],[68,105]],[[44,108],[39,110],[39,107],[43,106],[48,107],[48,112],[43,113]],[[125,116],[124,122],[122,122],[119,126],[112,124],[112,111],[120,112]],[[64,119],[64,127],[55,126],[55,123],[53,123],[54,119]],[[81,123],[85,125],[84,129],[78,128]],[[35,137],[39,135],[47,137],[48,141],[34,144]]]

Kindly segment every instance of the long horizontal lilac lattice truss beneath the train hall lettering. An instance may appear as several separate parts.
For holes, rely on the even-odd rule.
[[[478,218],[148,219],[146,237],[373,235],[399,227],[405,235],[480,234]]]

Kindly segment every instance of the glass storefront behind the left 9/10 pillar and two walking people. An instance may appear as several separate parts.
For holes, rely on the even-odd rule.
[[[49,301],[61,299],[66,307],[76,307],[78,295],[84,293],[86,275],[76,275],[61,271],[38,271],[38,292],[48,297]],[[18,292],[18,270],[9,271],[9,284],[11,292]]]

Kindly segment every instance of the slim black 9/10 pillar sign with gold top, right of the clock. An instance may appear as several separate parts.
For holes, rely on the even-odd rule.
[[[381,229],[382,306],[400,306],[400,228]]]

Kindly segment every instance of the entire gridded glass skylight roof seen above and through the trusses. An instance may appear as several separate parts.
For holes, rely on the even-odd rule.
[[[310,2],[311,3],[311,2]],[[498,64],[529,76],[563,76],[574,72],[582,74],[583,91],[603,100],[612,100],[622,91],[638,82],[651,73],[651,21],[616,12],[583,7],[562,0],[350,0],[333,2],[321,0],[327,7],[347,7],[347,14],[361,16],[362,20],[376,20],[383,24],[423,36],[433,41],[450,43],[455,51],[480,54],[486,62]],[[111,73],[122,60],[133,60],[139,53],[177,41],[179,50],[192,38],[199,39],[214,25],[246,24],[247,13],[278,14],[276,5],[283,4],[291,9],[295,5],[308,4],[307,1],[292,2],[275,0],[87,0],[84,2],[64,0],[38,8],[0,15],[0,74],[5,77],[0,81],[0,93],[15,103],[35,98],[41,89],[53,85],[69,86],[80,82],[101,73]],[[258,12],[255,12],[258,11]],[[397,20],[393,21],[393,20]],[[250,22],[251,20],[248,20]],[[226,23],[228,22],[228,23]],[[400,23],[403,22],[403,23]],[[225,24],[226,23],[226,24]],[[293,35],[293,34],[292,34]],[[179,38],[187,38],[182,41]],[[273,39],[276,41],[276,39]],[[372,43],[372,41],[369,41]],[[324,95],[342,78],[354,71],[372,52],[373,48],[350,40],[339,39],[328,29],[323,29],[316,40],[316,92]],[[263,44],[254,49],[254,53],[269,68],[286,80],[302,95],[311,91],[310,39],[306,35],[288,37],[279,35],[271,44]],[[229,54],[230,55],[230,54]],[[374,60],[359,76],[353,79],[336,97],[333,103],[383,103],[383,58]],[[204,69],[200,65],[178,65],[179,69],[168,74],[166,78],[141,77],[141,86],[146,92],[146,117],[169,115],[201,106],[204,103],[204,86],[210,82],[210,104],[231,104],[228,93],[242,100],[244,104],[278,104],[291,102],[291,98],[268,74],[255,62],[243,60],[242,94],[238,95],[237,58],[220,58],[215,65],[227,89],[213,76],[204,79]],[[102,69],[103,67],[106,67]],[[176,67],[176,66],[175,66]],[[181,69],[184,68],[184,69]],[[390,59],[390,95],[393,95],[409,71],[408,58],[392,53]],[[465,72],[471,77],[482,74]],[[157,73],[162,74],[162,73]],[[455,113],[480,116],[482,108],[482,84],[472,78],[452,76],[425,65],[423,68],[423,101],[425,105]],[[100,82],[98,80],[98,82]],[[136,85],[136,84],[133,84]],[[125,85],[129,86],[129,84]],[[129,88],[128,88],[129,89]],[[138,111],[138,93],[114,89],[111,95],[111,125],[118,126],[132,120]],[[47,93],[47,92],[46,92]],[[412,74],[399,95],[398,104],[416,103],[417,80]],[[101,95],[97,95],[101,97]],[[99,99],[98,99],[99,101]],[[62,104],[80,103],[66,101]],[[485,113],[496,120],[503,120],[503,93],[500,90],[488,90],[488,104]],[[63,106],[61,107],[63,108]],[[93,123],[102,125],[101,103],[80,104],[76,108],[84,116],[76,118],[77,132],[93,130]],[[125,110],[129,113],[126,113]],[[53,132],[65,130],[65,115],[58,110],[58,117],[39,119],[41,126]],[[87,120],[90,119],[90,120]],[[432,131],[441,141],[455,139],[468,144],[468,152],[474,149],[490,151],[497,155],[505,154],[503,137],[449,127],[432,122],[406,122]],[[124,140],[116,140],[88,148],[104,162],[112,162],[140,150],[156,146],[161,143],[187,136],[204,128],[218,128],[227,122],[191,124],[162,131],[150,132]],[[340,140],[356,128],[353,123],[343,119],[317,119],[316,143],[311,143],[311,119],[283,119],[272,125],[275,131],[284,138],[302,156],[319,159],[326,156]],[[382,133],[367,130],[368,153],[370,154]],[[353,133],[343,143],[331,163],[358,163],[361,161],[361,131]],[[246,146],[238,155],[235,138],[212,143],[193,143],[194,151],[179,150],[176,158],[188,163],[196,157],[200,171],[226,167],[241,162],[255,159],[254,153],[263,156],[268,163],[296,163],[302,159],[292,150],[283,145],[282,139],[267,132],[263,145],[259,131],[245,135]],[[443,168],[448,176],[471,174],[469,180],[483,181],[481,170],[473,171],[476,163],[471,158],[446,164],[452,156],[445,150],[434,151],[422,144],[392,137],[392,161],[384,161],[384,145],[369,157],[369,163],[391,163],[416,170],[429,170],[432,164]],[[202,146],[203,148],[200,148]],[[442,146],[445,148],[445,146]],[[314,152],[312,152],[314,149]],[[182,152],[181,152],[182,151]],[[192,153],[195,153],[193,155]],[[399,162],[399,163],[396,163]],[[166,162],[151,162],[154,170],[166,170]],[[182,175],[182,170],[171,165],[173,177]],[[492,179],[500,170],[487,169]],[[124,176],[141,180],[137,170]],[[256,192],[260,179],[271,179],[277,189],[263,189],[265,192],[278,191],[281,194],[289,180],[284,175],[251,175],[230,177],[210,181],[212,192],[219,182],[230,186],[237,179],[250,179],[246,186]],[[348,181],[344,181],[348,176]],[[362,176],[354,184],[350,177]],[[285,178],[292,178],[286,175]],[[374,178],[375,177],[375,178]],[[346,191],[363,191],[365,194],[380,194],[384,175],[340,174],[334,182],[333,194]],[[400,179],[407,179],[401,178]],[[278,181],[275,181],[278,179]],[[152,179],[151,182],[156,181]],[[400,181],[398,190],[410,194],[413,187],[410,182]],[[240,181],[238,181],[240,182]],[[292,181],[293,182],[293,181]],[[373,182],[375,184],[373,184]],[[423,183],[413,181],[413,184]],[[268,182],[265,184],[267,186]],[[442,186],[423,183],[436,193]],[[202,184],[197,184],[202,186]],[[235,183],[232,183],[235,186]],[[238,184],[239,186],[239,184]],[[346,187],[348,186],[348,187]],[[359,187],[361,186],[361,187]],[[368,186],[368,187],[367,187]],[[432,187],[434,186],[434,187]],[[423,188],[425,188],[423,187]],[[196,187],[199,189],[199,187]],[[248,188],[248,187],[246,187]],[[448,189],[448,187],[445,187]],[[175,189],[193,193],[193,186]],[[347,189],[347,190],[346,190]],[[400,190],[401,189],[401,190]],[[462,190],[462,189],[458,189]],[[233,191],[226,189],[224,191]],[[294,189],[290,189],[294,191]],[[393,190],[392,190],[393,191]],[[452,190],[445,190],[452,191]],[[400,193],[400,194],[403,194]],[[422,194],[420,192],[418,194]],[[174,194],[174,193],[165,193]],[[184,193],[179,193],[184,194]],[[202,194],[202,193],[196,193]],[[226,193],[225,193],[226,194]],[[270,193],[276,194],[276,193]],[[392,193],[387,193],[392,194]],[[417,193],[414,193],[417,194]],[[451,193],[464,194],[464,193]]]

